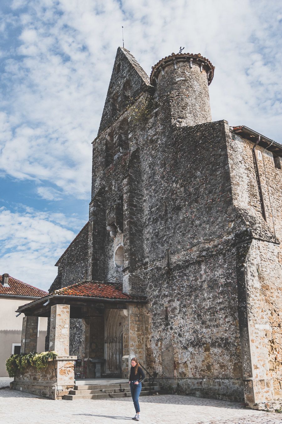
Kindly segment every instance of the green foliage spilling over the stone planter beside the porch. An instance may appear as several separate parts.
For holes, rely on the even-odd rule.
[[[46,367],[48,360],[54,359],[56,356],[54,351],[11,355],[6,360],[6,370],[9,377],[15,377],[18,370],[23,371],[28,365],[37,369]]]

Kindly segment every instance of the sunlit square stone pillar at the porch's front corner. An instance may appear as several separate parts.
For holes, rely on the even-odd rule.
[[[69,355],[69,310],[69,305],[51,307],[49,350],[58,356]]]

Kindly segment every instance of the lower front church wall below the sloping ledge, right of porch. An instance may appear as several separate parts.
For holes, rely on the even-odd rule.
[[[172,391],[242,400],[235,252],[214,250],[148,275],[147,365]]]

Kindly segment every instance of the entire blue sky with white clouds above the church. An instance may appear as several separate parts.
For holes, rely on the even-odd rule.
[[[0,273],[48,289],[88,220],[91,142],[122,44],[150,74],[180,45],[215,65],[213,120],[282,142],[274,0],[2,0]]]

